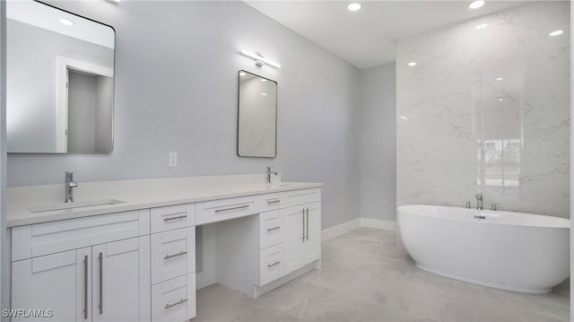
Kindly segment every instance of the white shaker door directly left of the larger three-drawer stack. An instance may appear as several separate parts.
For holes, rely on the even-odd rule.
[[[146,313],[151,306],[149,253],[149,236],[92,248],[91,304],[94,321],[150,319],[150,313]]]

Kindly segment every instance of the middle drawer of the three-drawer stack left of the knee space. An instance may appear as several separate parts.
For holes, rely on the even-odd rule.
[[[152,284],[196,270],[196,227],[152,234]]]

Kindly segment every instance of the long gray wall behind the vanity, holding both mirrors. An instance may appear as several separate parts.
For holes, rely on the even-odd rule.
[[[117,31],[109,155],[8,156],[10,187],[264,172],[323,182],[323,228],[359,216],[352,198],[359,71],[241,2],[50,2]],[[283,67],[257,68],[239,49]],[[278,82],[275,159],[236,156],[237,73]],[[178,152],[178,167],[168,167]]]

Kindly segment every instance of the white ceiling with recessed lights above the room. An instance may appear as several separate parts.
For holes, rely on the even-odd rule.
[[[259,12],[294,30],[357,68],[395,61],[396,39],[421,34],[528,1],[488,1],[470,9],[471,1],[248,1]]]

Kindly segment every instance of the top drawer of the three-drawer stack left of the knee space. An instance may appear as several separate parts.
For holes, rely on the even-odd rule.
[[[152,233],[196,224],[196,204],[152,208]]]

